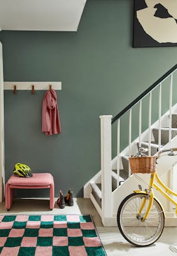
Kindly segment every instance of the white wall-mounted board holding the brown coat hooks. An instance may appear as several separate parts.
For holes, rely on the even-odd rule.
[[[54,90],[62,90],[61,82],[4,82],[4,90],[13,90],[14,85],[18,90],[32,90],[32,85],[34,85],[34,90],[48,90],[52,85]]]

